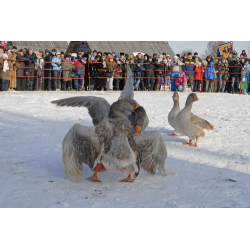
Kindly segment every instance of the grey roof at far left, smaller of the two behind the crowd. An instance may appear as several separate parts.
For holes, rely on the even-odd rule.
[[[39,51],[45,49],[65,52],[68,48],[67,41],[8,41],[8,46],[16,46],[17,49],[32,48],[33,51]]]

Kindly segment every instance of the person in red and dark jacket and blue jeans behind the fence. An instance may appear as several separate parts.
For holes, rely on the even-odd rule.
[[[76,77],[75,77],[75,88],[76,91],[81,91],[83,88],[83,81],[84,81],[84,75],[85,75],[85,65],[87,64],[87,61],[85,58],[82,57],[82,53],[78,53],[78,57],[76,57],[73,61],[74,63],[74,69],[76,71]]]

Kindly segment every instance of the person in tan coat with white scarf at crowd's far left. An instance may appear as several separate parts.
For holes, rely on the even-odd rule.
[[[0,57],[1,91],[8,91],[9,89],[11,66],[11,62],[8,61],[8,55],[3,54]]]

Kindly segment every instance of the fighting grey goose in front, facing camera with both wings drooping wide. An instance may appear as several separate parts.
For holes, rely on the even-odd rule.
[[[130,104],[125,104],[129,102]],[[82,164],[87,164],[94,175],[89,179],[101,182],[98,172],[102,162],[110,168],[128,173],[123,182],[134,182],[140,169],[154,174],[158,169],[165,174],[167,150],[157,131],[134,136],[134,128],[125,110],[136,111],[139,105],[132,100],[120,100],[111,106],[109,115],[96,127],[74,125],[63,141],[65,176],[74,182],[82,180]],[[95,161],[97,166],[94,168]]]

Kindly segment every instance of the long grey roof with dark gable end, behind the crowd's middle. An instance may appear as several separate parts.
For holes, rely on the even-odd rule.
[[[171,57],[175,55],[167,41],[71,41],[69,48],[77,52],[75,50],[80,50],[81,46],[86,48],[86,44],[91,51],[114,51],[116,53],[124,52],[128,54],[140,51],[149,55],[153,55],[154,53],[162,54],[165,52]]]

